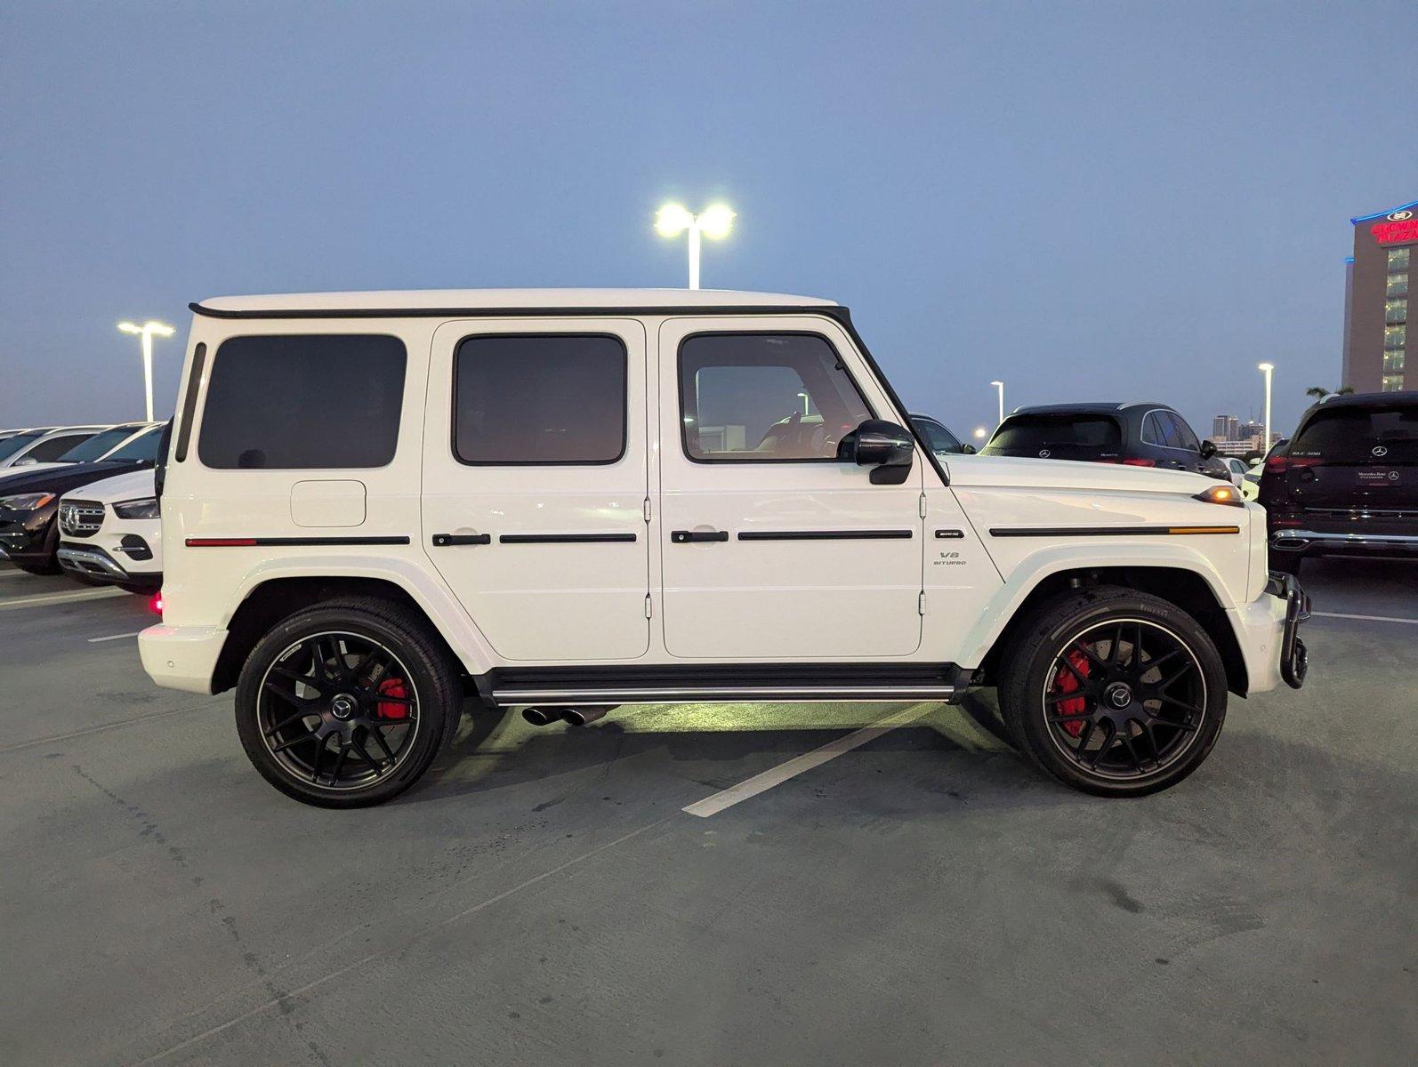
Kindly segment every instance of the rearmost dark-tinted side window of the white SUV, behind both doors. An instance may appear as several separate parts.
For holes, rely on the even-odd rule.
[[[217,469],[384,466],[404,343],[381,334],[231,337],[211,360],[197,456]]]

